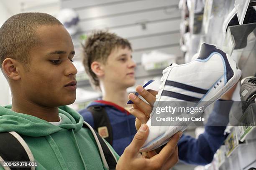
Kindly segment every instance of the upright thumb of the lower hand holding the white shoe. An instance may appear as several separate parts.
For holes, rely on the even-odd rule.
[[[145,143],[148,138],[148,126],[142,124],[141,128],[138,130],[133,138],[133,141],[125,148],[124,153],[130,158],[139,153],[140,148]]]

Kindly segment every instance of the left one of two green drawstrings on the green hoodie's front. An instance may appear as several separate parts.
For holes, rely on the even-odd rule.
[[[59,161],[59,164],[61,165],[62,170],[69,170],[54,139],[51,138],[51,135],[45,136],[45,138],[48,141],[48,143],[50,144],[52,150],[54,150],[54,153],[56,155],[57,160]]]

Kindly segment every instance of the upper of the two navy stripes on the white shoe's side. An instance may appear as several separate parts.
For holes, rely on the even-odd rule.
[[[174,81],[170,81],[170,80],[166,80],[165,85],[170,85],[170,86],[173,86],[173,87],[178,87],[178,88],[181,88],[181,89],[184,89],[184,90],[188,90],[188,91],[191,91],[191,92],[197,92],[197,93],[201,93],[201,94],[206,94],[207,91],[208,91],[208,90],[205,90],[205,89],[201,89],[201,88],[194,87],[194,86],[191,86],[191,85],[185,85],[185,84],[182,84],[180,82],[174,82]]]

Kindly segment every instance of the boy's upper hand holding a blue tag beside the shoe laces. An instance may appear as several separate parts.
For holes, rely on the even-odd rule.
[[[157,91],[145,90],[141,85],[136,87],[136,91],[150,104],[148,105],[133,93],[128,95],[129,99],[134,103],[129,112],[136,117],[135,125],[138,130],[141,124],[146,123],[150,117],[154,102],[156,101]]]

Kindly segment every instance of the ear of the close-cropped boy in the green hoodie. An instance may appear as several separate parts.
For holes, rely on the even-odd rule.
[[[11,80],[19,80],[20,79],[20,70],[18,67],[18,61],[13,58],[5,58],[3,61],[3,71],[5,75],[9,77]]]

